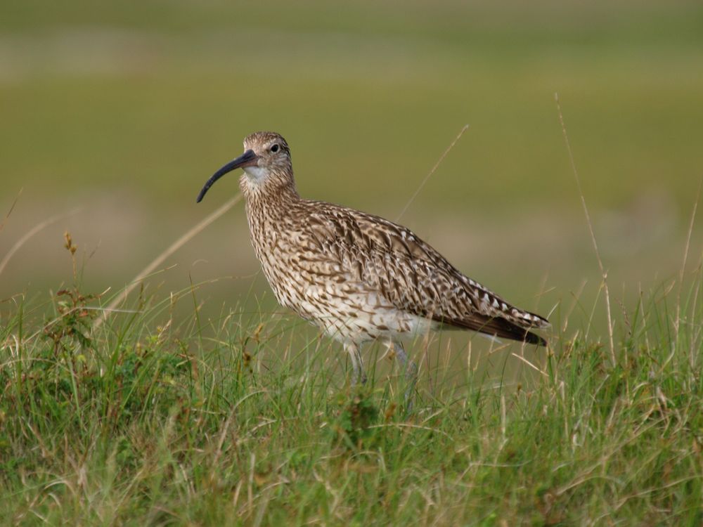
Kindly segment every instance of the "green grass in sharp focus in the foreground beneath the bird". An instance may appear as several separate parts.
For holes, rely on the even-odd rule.
[[[48,319],[15,298],[0,318],[0,518],[697,526],[700,268],[695,277],[678,315],[673,284],[621,311],[612,367],[585,327],[558,329],[562,308],[534,358],[517,345],[477,358],[473,341],[468,360],[446,342],[423,356],[416,343],[410,416],[387,359],[367,353],[369,382],[352,389],[337,346],[299,341],[297,321],[278,315],[202,319],[197,286],[140,294],[97,328],[110,299],[77,285],[53,294]],[[193,305],[180,323],[177,301]]]

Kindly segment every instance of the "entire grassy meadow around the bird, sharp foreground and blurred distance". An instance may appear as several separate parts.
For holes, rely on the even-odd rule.
[[[0,5],[0,523],[703,523],[702,20]],[[370,346],[354,389],[276,305],[240,204],[108,311],[236,195],[195,204],[257,129],[288,139],[302,195],[400,219],[548,315],[548,349],[420,339],[408,413]]]

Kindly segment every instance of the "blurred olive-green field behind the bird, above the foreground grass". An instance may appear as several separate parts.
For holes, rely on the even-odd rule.
[[[231,176],[195,204],[252,131],[288,139],[302,195],[396,219],[470,124],[402,223],[543,314],[585,283],[585,318],[600,278],[555,92],[631,306],[678,274],[703,176],[700,1],[2,1],[0,259],[78,210],[22,245],[0,299],[70,282],[65,230],[84,290],[124,287],[237,192]],[[167,266],[162,297],[220,278],[204,310],[274,306],[241,206]]]

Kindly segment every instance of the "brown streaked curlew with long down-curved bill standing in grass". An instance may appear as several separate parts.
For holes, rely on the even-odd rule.
[[[239,186],[252,246],[276,300],[342,343],[352,385],[366,382],[360,349],[368,341],[393,351],[411,386],[417,367],[403,341],[430,330],[474,330],[546,346],[531,332],[550,327],[546,318],[468,278],[410,229],[301,197],[280,134],[247,136],[244,153],[209,178],[197,202],[236,169],[243,169]]]

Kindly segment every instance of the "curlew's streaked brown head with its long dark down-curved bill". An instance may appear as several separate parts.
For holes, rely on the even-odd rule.
[[[198,202],[219,178],[235,169],[243,169],[245,188],[257,189],[293,184],[290,149],[276,132],[254,132],[244,139],[244,153],[228,162],[207,180],[198,194]]]

